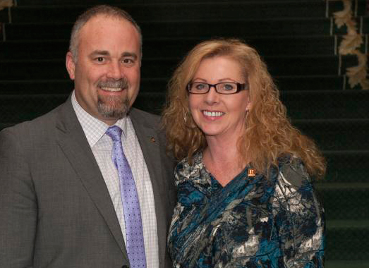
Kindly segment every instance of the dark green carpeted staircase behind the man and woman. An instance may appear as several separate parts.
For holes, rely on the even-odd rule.
[[[332,14],[343,9],[341,1],[19,0],[0,11],[0,129],[65,101],[73,89],[64,63],[73,21],[102,3],[125,9],[143,30],[135,106],[146,111],[160,112],[171,73],[201,40],[238,37],[258,49],[294,126],[327,157],[327,176],[317,183],[327,218],[326,267],[369,267],[369,90],[349,88],[346,68],[357,59],[338,54],[345,28]],[[368,53],[366,1],[353,5]]]

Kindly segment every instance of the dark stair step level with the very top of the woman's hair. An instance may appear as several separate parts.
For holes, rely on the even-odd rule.
[[[335,55],[336,45],[337,42],[339,44],[341,37],[245,37],[243,39],[250,46],[255,47],[262,56]],[[145,58],[183,57],[200,41],[200,39],[187,38],[145,39],[144,37],[143,55]],[[366,46],[368,49],[368,44]],[[365,44],[362,49],[365,50]],[[64,59],[66,51],[68,51],[67,39],[0,42],[0,59]]]

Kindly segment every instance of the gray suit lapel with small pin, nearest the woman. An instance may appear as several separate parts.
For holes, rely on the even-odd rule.
[[[155,199],[155,214],[157,217],[157,236],[159,243],[159,260],[164,263],[165,250],[167,243],[167,217],[165,214],[165,193],[167,187],[164,185],[164,178],[162,175],[162,159],[159,148],[159,138],[157,137],[157,130],[148,126],[143,122],[143,118],[135,114],[135,109],[130,112],[131,121],[135,128],[135,134],[140,142],[143,157],[145,159],[147,169],[150,173],[152,183],[152,190]],[[164,145],[163,145],[164,146]]]

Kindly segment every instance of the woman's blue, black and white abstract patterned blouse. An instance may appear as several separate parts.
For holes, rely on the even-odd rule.
[[[250,169],[223,188],[202,153],[176,166],[174,267],[323,267],[324,211],[301,159],[279,159],[269,178]]]

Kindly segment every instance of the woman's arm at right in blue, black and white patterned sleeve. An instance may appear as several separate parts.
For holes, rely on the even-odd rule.
[[[279,168],[272,211],[284,267],[323,267],[324,209],[300,159]]]

